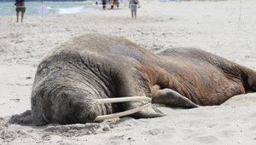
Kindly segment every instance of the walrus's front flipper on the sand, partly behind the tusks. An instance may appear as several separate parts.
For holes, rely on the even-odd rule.
[[[143,102],[125,102],[122,103],[125,110],[131,110],[136,107],[143,105]],[[148,118],[158,118],[165,116],[166,114],[162,113],[158,108],[154,107],[154,104],[150,105],[151,107],[143,108],[143,110],[133,113],[131,116],[134,119],[148,119]]]

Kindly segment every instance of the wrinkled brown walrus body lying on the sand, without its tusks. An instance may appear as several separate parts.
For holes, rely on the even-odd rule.
[[[170,107],[219,105],[256,90],[256,73],[201,49],[153,54],[125,38],[84,34],[60,44],[38,65],[32,87],[35,125],[92,122],[143,102],[98,105],[97,98],[147,96]],[[131,114],[163,116],[154,106]]]

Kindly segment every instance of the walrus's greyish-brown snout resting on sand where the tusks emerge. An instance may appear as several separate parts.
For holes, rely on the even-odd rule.
[[[93,122],[98,115],[94,97],[83,90],[63,90],[56,99],[60,99],[54,104],[55,108],[59,108],[56,109],[59,112],[55,112],[58,123],[84,124]]]

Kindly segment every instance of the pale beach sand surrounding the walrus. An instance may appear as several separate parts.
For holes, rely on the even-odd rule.
[[[141,1],[137,20],[120,9],[84,14],[0,16],[0,144],[256,144],[256,93],[221,106],[160,107],[157,119],[110,119],[86,125],[13,125],[30,109],[38,62],[74,35],[100,32],[128,38],[154,52],[195,47],[256,70],[256,1],[159,3]]]

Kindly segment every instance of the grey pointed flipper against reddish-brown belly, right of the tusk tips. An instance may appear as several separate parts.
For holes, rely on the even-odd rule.
[[[158,90],[156,96],[152,99],[152,102],[165,104],[170,107],[200,107],[185,96],[179,94],[177,91],[171,89]]]

